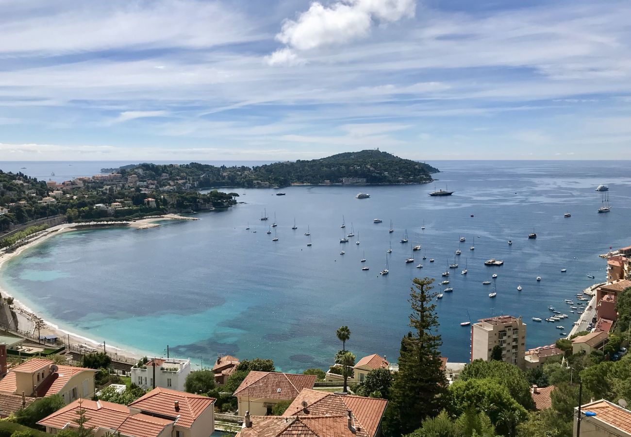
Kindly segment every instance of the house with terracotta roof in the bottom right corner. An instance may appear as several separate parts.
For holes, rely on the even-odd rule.
[[[595,413],[586,415],[586,412]],[[574,431],[577,436],[578,407],[574,409]],[[581,435],[589,437],[631,437],[631,411],[608,400],[581,405]]]

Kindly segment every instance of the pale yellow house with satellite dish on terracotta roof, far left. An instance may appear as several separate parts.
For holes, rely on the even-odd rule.
[[[0,381],[0,392],[25,397],[61,395],[66,404],[78,398],[94,396],[95,369],[54,364],[52,360],[33,358],[11,369]]]

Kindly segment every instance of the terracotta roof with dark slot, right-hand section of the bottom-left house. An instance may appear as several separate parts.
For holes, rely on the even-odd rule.
[[[175,410],[175,401],[179,410]],[[137,408],[143,412],[160,414],[166,417],[179,417],[177,425],[182,428],[191,428],[191,425],[208,407],[212,407],[215,398],[193,395],[191,393],[177,392],[168,388],[156,387],[146,395],[134,400],[129,407]]]

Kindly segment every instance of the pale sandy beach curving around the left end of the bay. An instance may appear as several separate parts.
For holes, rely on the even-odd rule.
[[[9,260],[13,260],[17,258],[25,251],[30,248],[33,248],[47,239],[61,235],[64,232],[73,232],[81,229],[107,229],[109,227],[129,227],[134,230],[143,230],[143,229],[151,229],[153,227],[159,227],[160,224],[156,223],[162,220],[199,220],[194,217],[183,217],[176,214],[165,214],[158,215],[155,217],[146,217],[144,219],[138,219],[131,222],[121,221],[121,222],[85,222],[85,223],[67,223],[56,225],[54,227],[50,227],[49,229],[45,229],[42,232],[37,232],[37,234],[33,234],[29,236],[25,240],[25,244],[22,244],[14,251],[7,252],[6,250],[0,250],[0,276],[3,273],[3,269],[7,268],[6,264]],[[62,341],[70,342],[74,345],[84,345],[90,349],[99,349],[99,345],[102,344],[93,338],[90,338],[86,335],[81,335],[80,333],[73,332],[72,328],[64,329],[61,326],[57,325],[58,322],[62,322],[62,320],[51,321],[46,320],[43,317],[38,316],[32,308],[30,308],[27,302],[21,300],[21,296],[16,294],[14,290],[10,290],[7,287],[3,287],[3,284],[0,282],[0,294],[3,297],[13,297],[14,301],[11,305],[11,310],[16,315],[17,326],[16,328],[22,332],[28,332],[32,335],[37,333],[37,322],[43,323],[44,325],[40,327],[39,335],[57,335]],[[134,359],[134,361],[142,358],[144,354],[141,350],[136,350],[134,347],[129,345],[122,344],[107,344],[106,348],[110,355],[126,357],[129,359]],[[146,351],[149,352],[149,351]]]

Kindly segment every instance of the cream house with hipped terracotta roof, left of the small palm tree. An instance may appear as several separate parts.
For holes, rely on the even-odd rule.
[[[239,416],[249,411],[252,416],[271,414],[272,407],[282,400],[294,400],[303,388],[313,388],[315,375],[251,371],[235,390]]]

